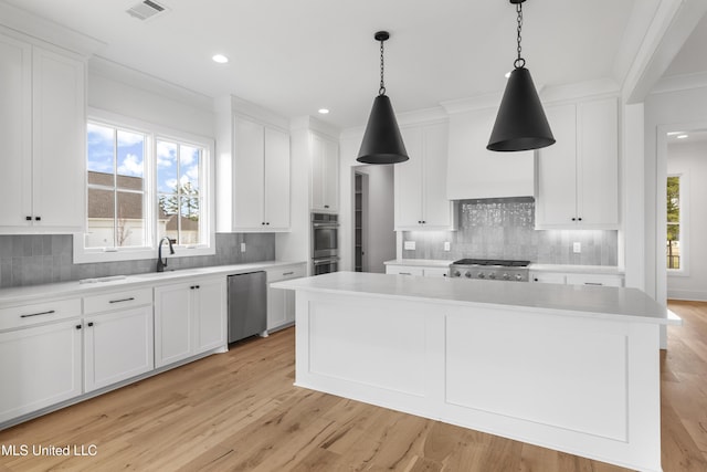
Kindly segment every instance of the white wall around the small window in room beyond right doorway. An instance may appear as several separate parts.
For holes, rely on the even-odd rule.
[[[707,301],[707,141],[667,148],[667,172],[680,176],[680,266],[668,271],[667,296]]]

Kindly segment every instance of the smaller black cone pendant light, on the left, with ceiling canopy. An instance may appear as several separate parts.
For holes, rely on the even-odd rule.
[[[386,95],[383,81],[383,42],[390,38],[390,34],[388,31],[379,31],[373,38],[380,41],[380,88],[378,96],[373,99],[363,141],[356,160],[363,164],[403,162],[409,159],[408,151],[402,141],[390,98]]]

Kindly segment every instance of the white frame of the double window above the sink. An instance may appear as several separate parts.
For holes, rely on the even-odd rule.
[[[199,255],[215,254],[215,175],[214,175],[214,143],[212,138],[199,136],[192,133],[186,133],[172,129],[166,126],[143,122],[114,113],[105,112],[96,108],[88,108],[86,113],[86,132],[84,139],[87,138],[87,124],[95,123],[97,125],[109,126],[115,128],[124,128],[146,135],[145,150],[145,193],[146,193],[146,247],[127,247],[127,248],[85,248],[86,232],[74,233],[74,263],[92,263],[92,262],[119,262],[136,261],[145,259],[157,259],[157,156],[156,146],[158,140],[173,141],[179,145],[188,145],[203,149],[201,161],[201,171],[203,172],[202,187],[205,192],[200,195],[200,231],[203,232],[202,244],[175,244],[175,254],[170,258],[190,258]],[[86,159],[87,159],[86,149]],[[84,169],[84,191],[88,192],[88,172]],[[88,198],[86,197],[86,207],[84,208],[84,222],[87,224]],[[86,228],[87,229],[87,228]]]

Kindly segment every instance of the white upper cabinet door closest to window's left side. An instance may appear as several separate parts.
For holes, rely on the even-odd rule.
[[[85,65],[33,49],[33,225],[84,231]],[[39,220],[38,220],[39,219]]]

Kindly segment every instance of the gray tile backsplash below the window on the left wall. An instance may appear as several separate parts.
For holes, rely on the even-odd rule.
[[[193,258],[169,258],[169,269],[239,264],[275,259],[274,233],[217,233],[217,253]],[[244,242],[247,251],[242,253]],[[0,235],[0,289],[68,282],[108,275],[129,275],[155,271],[154,259],[73,263],[71,234]]]

